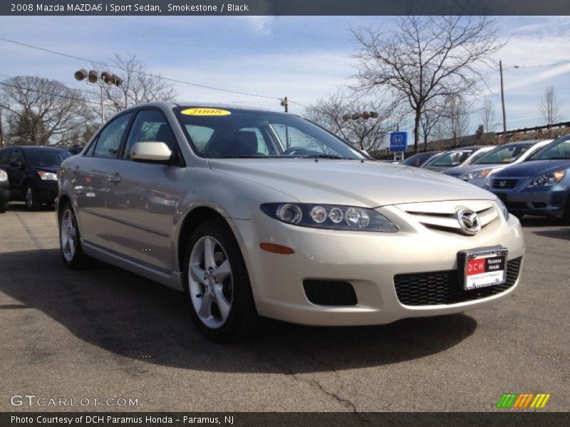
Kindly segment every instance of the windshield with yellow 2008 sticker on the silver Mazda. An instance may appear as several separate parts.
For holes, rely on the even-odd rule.
[[[308,120],[277,112],[179,108],[180,125],[200,157],[366,159]]]

